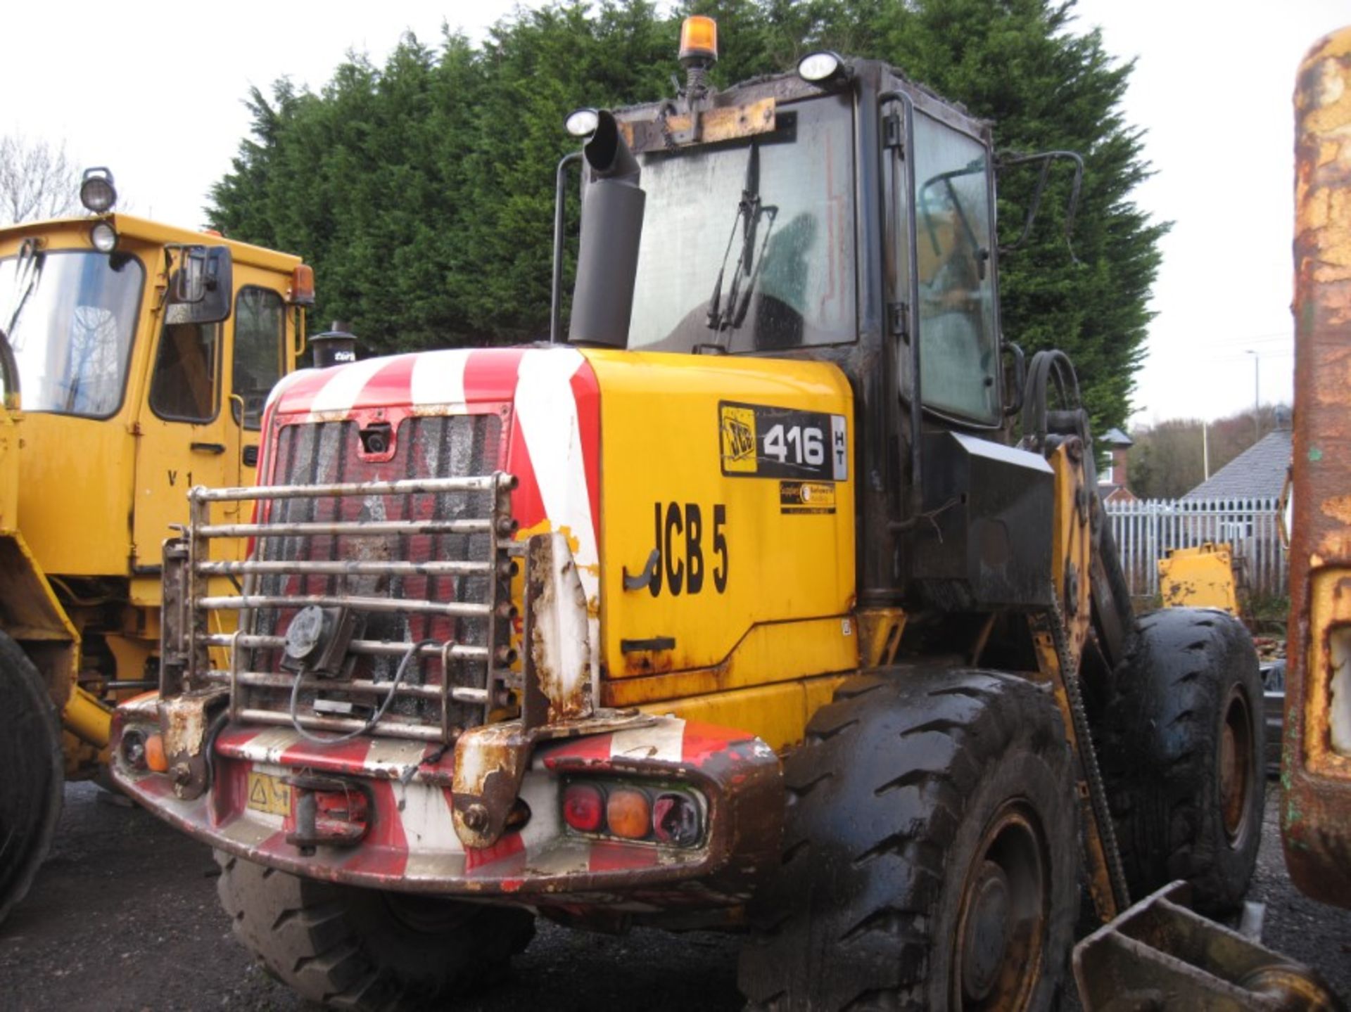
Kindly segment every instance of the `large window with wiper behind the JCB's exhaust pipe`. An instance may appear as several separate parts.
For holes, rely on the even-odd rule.
[[[847,96],[781,105],[771,134],[651,151],[640,162],[647,208],[631,349],[854,340]]]

